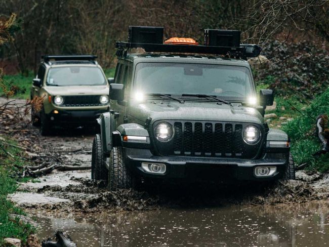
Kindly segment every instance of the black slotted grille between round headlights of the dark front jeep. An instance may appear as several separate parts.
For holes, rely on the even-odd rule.
[[[243,141],[242,130],[245,126],[251,125],[251,123],[210,121],[166,122],[171,123],[175,134],[173,139],[167,143],[155,140],[156,147],[162,155],[250,159],[257,155],[262,143],[260,141],[256,145],[248,145]],[[260,127],[259,129],[263,137],[263,130]]]

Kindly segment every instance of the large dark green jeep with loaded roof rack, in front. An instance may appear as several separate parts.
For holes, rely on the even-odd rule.
[[[134,187],[142,177],[294,179],[289,137],[263,118],[273,92],[261,90],[257,97],[245,60],[261,49],[239,45],[239,38],[236,44],[238,31],[226,40],[227,30],[206,30],[217,32],[217,43],[209,35],[204,46],[185,38],[162,44],[158,29],[130,27],[129,42],[116,43],[118,63],[109,112],[98,118],[92,178],[108,180],[111,190]],[[132,48],[146,53],[128,54]]]

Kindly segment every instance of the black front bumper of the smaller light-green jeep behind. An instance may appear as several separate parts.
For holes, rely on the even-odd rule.
[[[55,113],[55,112],[58,113]],[[97,110],[53,110],[46,117],[54,124],[94,125],[100,114],[107,109]]]

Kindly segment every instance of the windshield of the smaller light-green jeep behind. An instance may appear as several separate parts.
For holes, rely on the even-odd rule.
[[[98,67],[65,66],[50,68],[48,86],[96,86],[106,85],[106,79]]]

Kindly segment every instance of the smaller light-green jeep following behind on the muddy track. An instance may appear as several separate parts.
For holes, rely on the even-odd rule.
[[[107,111],[109,83],[96,58],[43,56],[31,88],[31,99],[43,98],[42,110],[31,111],[33,125],[41,126],[42,135],[58,126],[96,126],[96,118]]]

